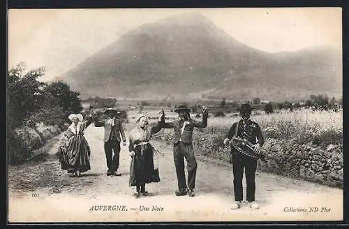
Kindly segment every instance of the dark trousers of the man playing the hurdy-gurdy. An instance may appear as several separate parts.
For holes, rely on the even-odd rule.
[[[232,174],[234,175],[234,194],[235,201],[243,200],[242,178],[246,177],[246,200],[255,201],[255,170],[257,169],[257,160],[241,154],[232,156]]]

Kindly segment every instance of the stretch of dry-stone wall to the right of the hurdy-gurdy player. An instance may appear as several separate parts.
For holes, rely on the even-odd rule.
[[[258,161],[259,170],[343,188],[343,145],[321,147],[268,138],[263,148],[267,163]]]

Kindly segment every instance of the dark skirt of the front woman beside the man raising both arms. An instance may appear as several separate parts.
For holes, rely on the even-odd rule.
[[[154,152],[150,144],[134,149],[130,165],[130,186],[160,182],[158,168],[154,168]]]

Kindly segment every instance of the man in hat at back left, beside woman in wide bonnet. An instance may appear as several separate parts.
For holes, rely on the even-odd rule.
[[[107,118],[103,121],[96,121],[95,119],[94,126],[104,126],[103,141],[105,157],[107,158],[107,176],[121,176],[121,173],[118,173],[117,170],[119,169],[120,158],[120,135],[123,145],[126,146],[124,128],[122,127],[121,120],[115,117],[117,111],[114,110],[114,108],[107,108],[105,114],[107,115]]]

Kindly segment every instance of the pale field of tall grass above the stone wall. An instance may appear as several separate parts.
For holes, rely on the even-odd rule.
[[[157,112],[161,108],[144,109],[152,119],[156,119]],[[128,112],[128,117],[134,119],[140,113],[137,110]],[[165,110],[165,117],[177,118],[177,113]],[[195,114],[191,114],[193,119]],[[265,112],[254,112],[251,119],[262,128],[266,138],[277,140],[297,140],[297,142],[316,142],[320,145],[341,144],[343,142],[343,111],[326,112],[313,111],[309,109],[295,110],[294,112],[279,111],[273,114]],[[221,136],[228,133],[230,126],[239,120],[237,113],[226,117],[214,117],[210,114],[207,128],[202,129],[204,133]]]

